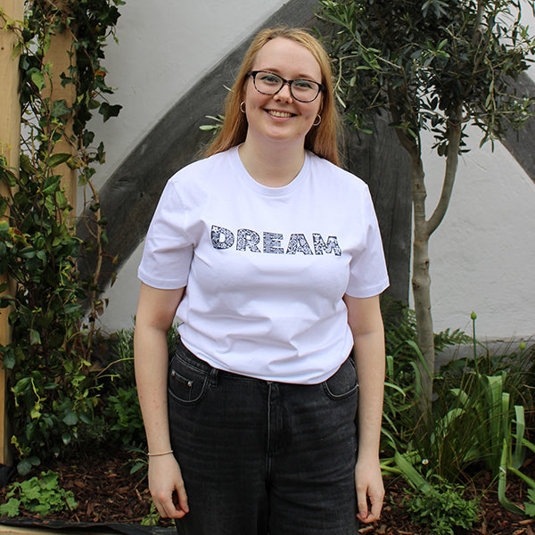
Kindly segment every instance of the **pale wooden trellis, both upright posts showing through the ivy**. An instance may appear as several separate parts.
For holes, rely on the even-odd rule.
[[[59,3],[59,2],[58,2]],[[5,21],[9,24],[22,21],[24,16],[24,0],[0,0],[0,8],[4,13]],[[17,36],[11,29],[6,28],[6,23],[0,20],[0,154],[5,157],[10,168],[15,172],[19,169],[19,157],[21,151],[21,106],[20,106],[20,73],[19,58],[13,57],[13,49],[17,44]],[[72,38],[69,30],[61,35],[53,36],[50,49],[46,53],[45,62],[52,65],[52,79],[45,87],[45,96],[50,96],[52,101],[65,100],[70,106],[76,98],[76,88],[73,84],[62,86],[60,75],[65,72],[70,74],[70,64],[75,61],[71,53]],[[66,138],[72,133],[72,120],[67,122]],[[76,152],[76,146],[70,144],[67,139],[61,140],[54,147],[54,152]],[[65,194],[73,207],[72,214],[76,214],[76,171],[66,164],[54,169],[62,174],[62,185]],[[0,193],[9,193],[6,185],[0,183]],[[4,215],[4,219],[9,214]],[[74,225],[73,225],[74,226]],[[5,274],[0,274],[0,280],[6,280]],[[6,345],[12,340],[12,330],[8,322],[9,310],[0,309],[0,343]],[[0,464],[12,464],[12,451],[10,448],[9,418],[6,411],[6,399],[8,394],[8,374],[1,366],[0,355]]]

